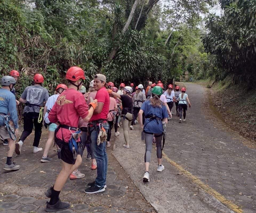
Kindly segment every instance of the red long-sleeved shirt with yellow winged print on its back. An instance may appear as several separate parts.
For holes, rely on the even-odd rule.
[[[66,89],[59,95],[49,112],[48,118],[52,123],[59,122],[62,125],[78,127],[79,117],[85,118],[88,113],[88,105],[82,93],[75,89]],[[68,142],[74,132],[60,128],[56,137]]]

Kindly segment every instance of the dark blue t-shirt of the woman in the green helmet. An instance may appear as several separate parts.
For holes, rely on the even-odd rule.
[[[143,110],[145,117],[155,115],[161,119],[168,118],[166,106],[162,105],[161,107],[153,107],[150,103],[150,100],[147,100],[142,104],[141,110]],[[162,121],[156,119],[150,121],[149,118],[146,118],[144,124],[144,131],[161,134],[163,132]]]

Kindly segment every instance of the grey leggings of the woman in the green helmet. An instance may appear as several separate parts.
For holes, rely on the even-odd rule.
[[[157,158],[162,158],[162,134],[155,134],[155,141],[156,141],[156,146],[157,146]],[[151,150],[152,150],[152,142],[154,138],[154,134],[148,134],[144,132],[144,138],[145,138],[145,143],[146,143],[146,152],[145,152],[145,163],[150,162],[151,158]]]

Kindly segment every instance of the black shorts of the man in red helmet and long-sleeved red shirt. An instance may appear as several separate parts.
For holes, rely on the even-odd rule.
[[[62,141],[59,138],[56,138],[56,144],[60,148],[60,152],[58,151],[58,157],[62,159],[62,161],[64,161],[65,163],[75,164],[76,160],[73,157],[73,153],[69,149],[69,143]],[[79,154],[79,150],[77,154]]]

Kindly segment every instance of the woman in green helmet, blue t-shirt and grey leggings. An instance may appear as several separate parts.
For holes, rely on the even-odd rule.
[[[168,113],[165,105],[160,100],[163,89],[155,86],[152,89],[152,97],[146,100],[139,110],[139,123],[143,129],[146,143],[145,153],[145,174],[143,181],[149,182],[149,163],[151,158],[152,140],[155,136],[157,146],[157,171],[161,172],[165,169],[162,165],[162,137],[164,133],[164,125],[168,122]],[[145,123],[143,125],[142,114],[145,113]]]

